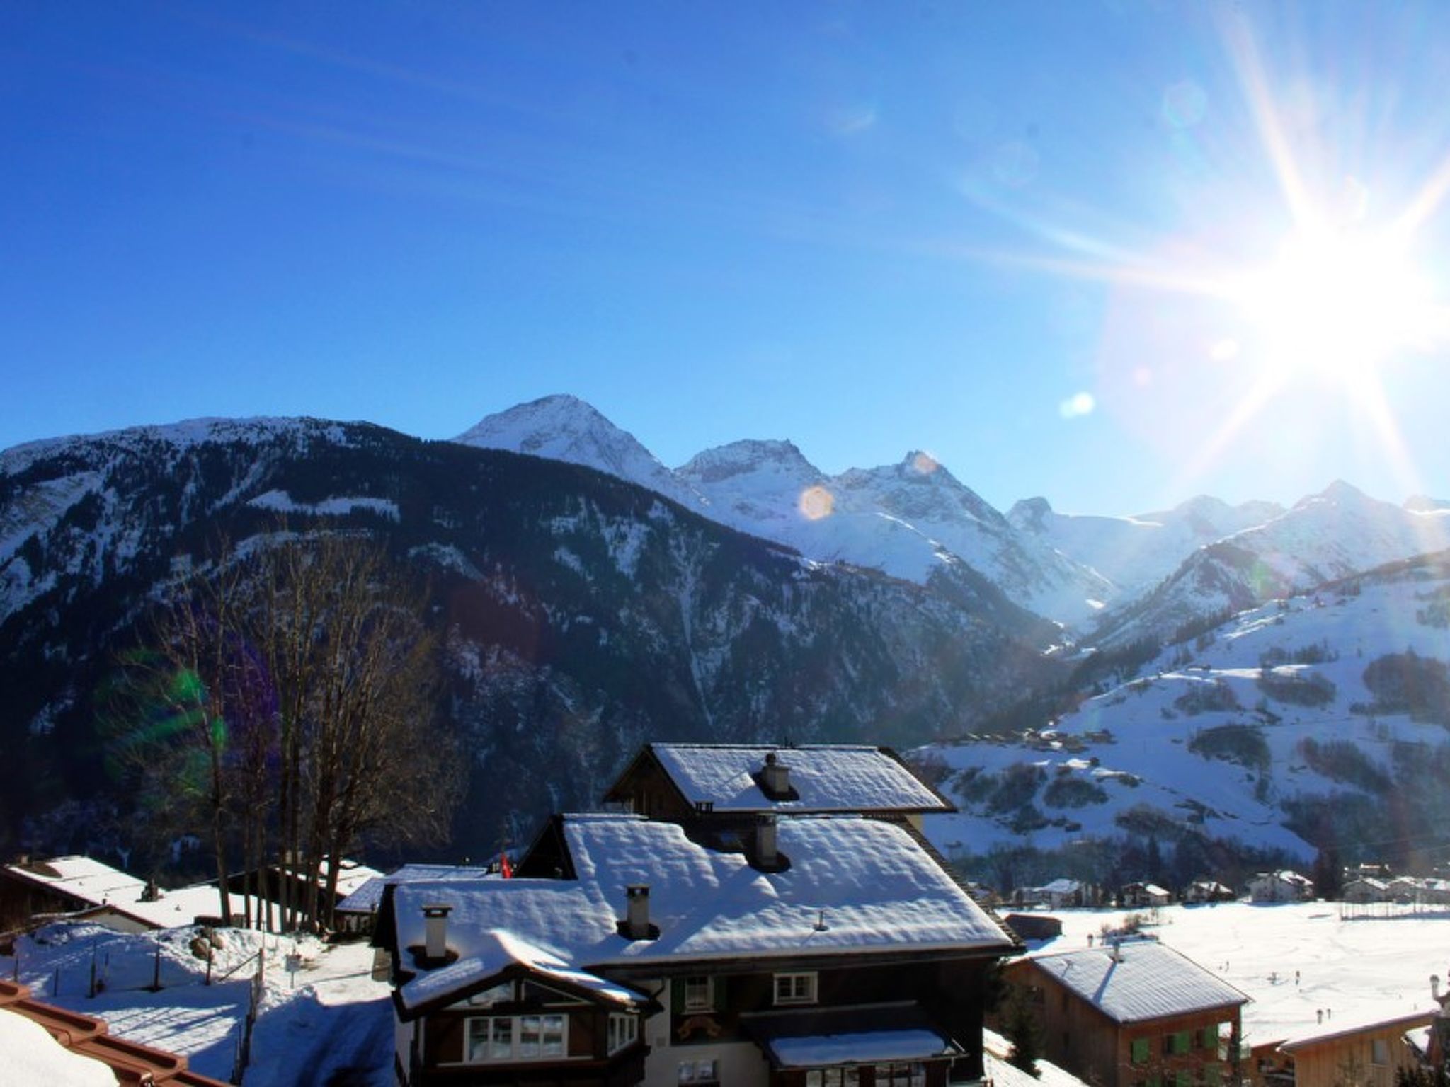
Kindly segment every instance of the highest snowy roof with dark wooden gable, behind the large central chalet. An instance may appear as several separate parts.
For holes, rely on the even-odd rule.
[[[625,812],[689,823],[763,815],[902,819],[956,812],[889,748],[647,744],[605,793]]]

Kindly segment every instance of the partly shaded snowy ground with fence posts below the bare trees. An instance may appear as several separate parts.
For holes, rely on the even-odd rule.
[[[349,1083],[392,1083],[390,987],[368,977],[371,948],[219,929],[222,946],[207,986],[206,962],[191,952],[197,932],[188,926],[130,935],[86,923],[48,925],[16,941],[19,961],[0,958],[0,974],[17,977],[38,1000],[104,1019],[112,1033],[183,1054],[196,1071],[225,1081],[236,1059],[255,955],[265,948],[246,1087],[323,1084],[344,1068],[358,1071]],[[294,949],[296,975],[286,970]],[[158,961],[161,990],[154,993]],[[93,962],[102,983],[94,997]]]

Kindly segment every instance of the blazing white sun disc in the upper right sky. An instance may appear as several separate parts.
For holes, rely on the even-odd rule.
[[[1263,338],[1263,362],[1292,374],[1360,381],[1424,342],[1430,290],[1389,235],[1301,230],[1235,291]]]

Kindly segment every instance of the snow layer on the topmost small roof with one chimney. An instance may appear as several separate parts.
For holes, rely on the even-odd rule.
[[[692,804],[729,812],[950,812],[890,752],[874,746],[651,744],[660,765]],[[753,774],[766,755],[790,768],[795,800],[771,800]]]

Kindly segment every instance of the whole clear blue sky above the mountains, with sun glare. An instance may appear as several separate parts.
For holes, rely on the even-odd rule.
[[[573,393],[1002,509],[1450,497],[1447,71],[1434,1],[9,0],[0,446]],[[1431,317],[1247,304],[1306,217]]]

